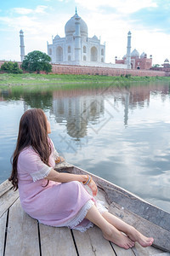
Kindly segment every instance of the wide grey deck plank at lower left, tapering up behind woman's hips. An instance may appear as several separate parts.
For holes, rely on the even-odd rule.
[[[39,252],[37,220],[24,212],[18,199],[9,209],[5,256],[37,256]]]

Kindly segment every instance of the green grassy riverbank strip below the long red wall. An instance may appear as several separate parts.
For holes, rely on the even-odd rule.
[[[77,74],[0,74],[0,86],[29,85],[29,84],[112,84],[114,82],[150,82],[150,81],[170,81],[170,77],[133,77],[131,75],[121,75],[116,77],[101,75],[77,75]]]

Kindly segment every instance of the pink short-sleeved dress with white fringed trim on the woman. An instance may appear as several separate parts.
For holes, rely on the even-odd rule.
[[[51,142],[52,143],[52,142]],[[49,158],[50,167],[45,165],[39,155],[28,147],[22,150],[18,158],[18,179],[20,203],[25,212],[40,223],[55,227],[67,226],[85,231],[93,226],[85,218],[94,205],[94,197],[89,195],[82,183],[77,181],[57,183],[47,179],[55,166],[58,155],[53,150]]]

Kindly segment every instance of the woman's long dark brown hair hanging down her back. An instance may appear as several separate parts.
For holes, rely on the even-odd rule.
[[[12,157],[12,172],[8,178],[18,189],[17,162],[20,152],[31,146],[39,154],[42,162],[49,166],[48,160],[51,154],[51,146],[48,139],[47,118],[42,109],[27,110],[20,119],[20,128],[16,148]]]

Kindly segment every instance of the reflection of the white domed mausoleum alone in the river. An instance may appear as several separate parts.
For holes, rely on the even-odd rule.
[[[66,129],[71,137],[80,139],[87,136],[88,122],[96,124],[104,114],[104,97],[71,96],[58,98],[54,95],[50,113],[54,113],[58,123],[66,121]]]

